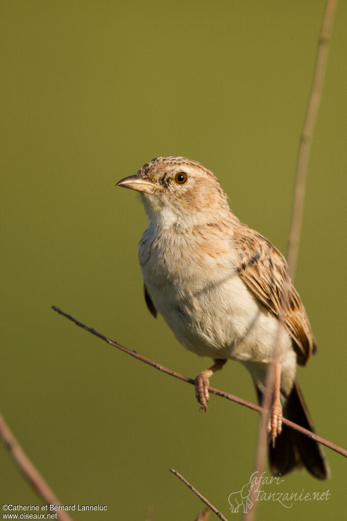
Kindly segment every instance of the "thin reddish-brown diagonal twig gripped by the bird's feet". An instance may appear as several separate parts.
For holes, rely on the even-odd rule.
[[[133,356],[134,358],[137,358],[141,362],[144,362],[145,364],[148,364],[151,367],[155,367],[159,371],[162,371],[162,373],[171,375],[175,378],[178,378],[178,380],[182,380],[183,382],[190,383],[191,385],[194,386],[194,384],[195,384],[194,379],[188,378],[187,376],[181,375],[180,373],[176,373],[176,371],[173,371],[172,369],[168,369],[167,367],[164,367],[163,365],[158,364],[157,362],[153,362],[149,358],[139,355],[138,353],[136,353],[136,351],[131,351],[130,349],[124,348],[123,345],[121,345],[117,342],[114,342],[113,340],[110,340],[109,338],[105,337],[105,335],[99,333],[98,331],[95,331],[95,329],[89,328],[88,326],[86,326],[79,320],[76,320],[71,315],[68,315],[67,313],[63,312],[61,309],[59,309],[56,306],[52,306],[52,309],[54,309],[54,311],[59,313],[59,315],[62,315],[64,317],[68,318],[69,320],[71,320],[72,322],[74,322],[74,324],[76,324],[76,326],[79,326],[82,329],[84,329],[85,331],[88,331],[89,333],[94,334],[96,337],[100,338],[101,340],[104,340],[108,344],[112,345],[114,348],[117,348],[117,349],[123,351],[124,353],[127,353],[130,356]],[[243,400],[243,398],[239,398],[238,396],[235,396],[234,394],[229,394],[225,391],[221,391],[220,389],[215,389],[214,387],[209,387],[209,392],[211,394],[215,394],[216,396],[222,396],[223,398],[226,398],[227,400],[231,400],[232,402],[239,403],[240,405],[245,405],[246,407],[253,409],[253,411],[258,411],[258,412],[263,411],[263,408],[260,407],[259,405],[255,405],[254,403],[248,402],[247,400]],[[308,436],[309,438],[312,438],[312,439],[318,441],[319,443],[326,445],[327,447],[329,447],[329,449],[332,449],[333,451],[338,452],[339,454],[342,454],[342,456],[347,457],[347,451],[342,449],[335,443],[331,443],[330,441],[325,440],[324,438],[321,438],[320,436],[317,436],[310,430],[304,429],[300,425],[294,424],[293,421],[287,420],[287,418],[283,418],[283,423],[288,425],[292,429],[302,432],[302,434],[304,434],[305,436]]]

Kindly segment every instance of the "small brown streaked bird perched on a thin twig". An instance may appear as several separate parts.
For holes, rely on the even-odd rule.
[[[316,343],[285,257],[233,214],[217,177],[195,160],[156,157],[116,186],[138,192],[149,220],[138,246],[149,312],[184,348],[214,361],[195,379],[200,410],[228,359],[246,367],[262,403],[275,356],[269,468],[283,476],[305,467],[326,479],[320,445],[282,425],[286,417],[314,432],[295,373]]]

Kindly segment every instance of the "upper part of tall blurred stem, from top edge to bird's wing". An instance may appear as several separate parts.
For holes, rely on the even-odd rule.
[[[328,59],[329,41],[336,7],[337,0],[327,0],[322,30],[320,31],[319,35],[311,95],[309,105],[307,106],[303,132],[300,139],[297,161],[297,181],[295,184],[292,222],[288,242],[288,268],[292,279],[295,275],[295,267],[298,258],[299,238],[302,224],[305,184],[307,177],[307,165],[309,163],[313,130],[317,118],[320,98],[322,97],[325,70]]]

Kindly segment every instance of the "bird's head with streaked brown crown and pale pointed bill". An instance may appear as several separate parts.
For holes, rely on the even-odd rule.
[[[156,157],[116,186],[139,192],[149,219],[168,226],[214,222],[221,212],[229,212],[215,175],[185,157]]]

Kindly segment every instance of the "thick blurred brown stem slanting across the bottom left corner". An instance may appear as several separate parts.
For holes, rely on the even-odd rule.
[[[23,449],[19,445],[14,434],[11,432],[1,413],[0,436],[2,437],[3,442],[8,451],[10,452],[12,458],[15,460],[18,467],[20,468],[22,474],[25,478],[28,479],[28,481],[30,482],[34,490],[37,492],[37,494],[42,498],[42,500],[47,505],[61,505],[60,501],[56,498],[54,492],[49,488],[44,478],[41,476],[41,474],[29,460],[27,454],[24,453]],[[57,514],[57,519],[60,519],[60,521],[72,521],[72,518],[63,510],[55,511],[54,513]]]

